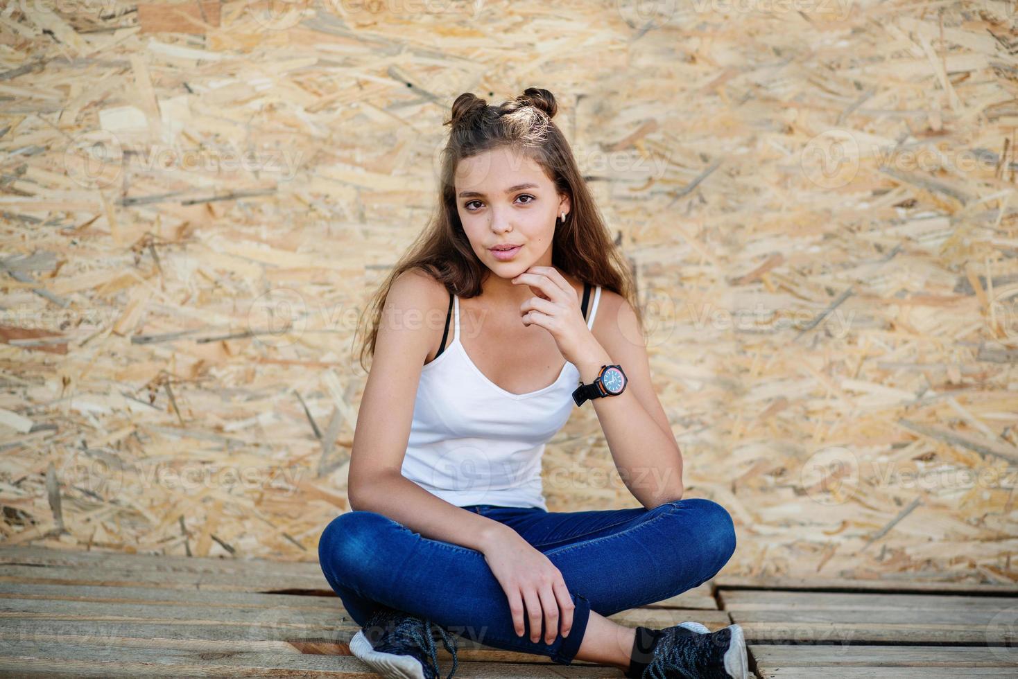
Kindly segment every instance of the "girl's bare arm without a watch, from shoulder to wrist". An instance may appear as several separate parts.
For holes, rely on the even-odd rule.
[[[425,273],[406,271],[393,282],[357,413],[347,499],[353,510],[375,511],[426,538],[483,551],[511,529],[432,495],[400,473],[420,370],[441,336],[425,319],[444,318],[447,306],[445,288]]]

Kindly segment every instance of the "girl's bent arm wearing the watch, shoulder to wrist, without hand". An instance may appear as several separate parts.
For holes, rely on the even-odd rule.
[[[603,328],[599,332],[601,340],[590,335],[589,346],[576,367],[584,384],[592,382],[606,364],[620,365],[625,371],[629,381],[622,393],[588,403],[593,404],[623,482],[633,497],[651,509],[682,498],[682,452],[651,382],[646,347],[636,314],[622,297],[613,294],[609,299],[604,316],[616,322],[595,320],[595,325]],[[603,292],[602,305],[605,302]]]

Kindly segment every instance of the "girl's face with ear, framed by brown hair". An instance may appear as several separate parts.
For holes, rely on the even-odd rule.
[[[551,266],[552,238],[560,212],[569,214],[568,196],[536,162],[507,146],[459,162],[456,209],[473,252],[502,279],[533,265]],[[496,256],[496,246],[516,249]]]

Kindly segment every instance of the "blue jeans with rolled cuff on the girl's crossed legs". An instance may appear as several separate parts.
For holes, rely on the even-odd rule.
[[[542,630],[531,641],[524,604],[525,630],[517,636],[509,601],[483,553],[362,510],[334,518],[319,541],[322,571],[358,625],[385,606],[478,643],[569,665],[590,611],[609,616],[674,597],[711,579],[735,552],[731,515],[702,498],[654,509],[463,508],[510,527],[555,564],[575,605],[569,635],[546,643]]]

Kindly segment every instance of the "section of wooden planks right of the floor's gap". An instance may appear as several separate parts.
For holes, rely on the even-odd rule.
[[[1018,677],[1018,588],[720,577],[761,679]]]

